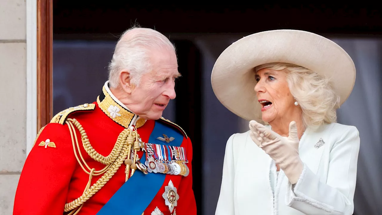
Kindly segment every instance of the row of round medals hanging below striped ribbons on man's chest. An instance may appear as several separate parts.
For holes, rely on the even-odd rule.
[[[149,159],[145,162],[145,165],[148,167],[147,170],[149,172],[188,176],[189,168],[185,164],[186,162],[187,161],[178,160],[166,162],[149,157]]]

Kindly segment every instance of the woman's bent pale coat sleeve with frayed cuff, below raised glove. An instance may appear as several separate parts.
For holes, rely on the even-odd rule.
[[[288,183],[286,204],[307,215],[352,215],[359,143],[354,126],[334,143],[326,183],[304,164],[298,182]]]

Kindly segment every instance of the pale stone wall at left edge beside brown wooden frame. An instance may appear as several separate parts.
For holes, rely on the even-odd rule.
[[[36,69],[27,67],[35,65],[27,63],[27,29],[32,26],[27,28],[30,14],[27,11],[31,9],[27,5],[31,3],[31,8],[36,9],[36,0],[0,1],[0,215],[13,212],[16,187],[28,153],[27,142],[37,133],[30,130],[31,118],[27,114],[36,111],[27,108],[31,101],[29,94],[36,91],[35,86],[29,91],[33,82],[30,72]],[[34,21],[35,26],[36,11],[32,14],[34,17],[28,23]],[[28,132],[32,134],[29,137]]]

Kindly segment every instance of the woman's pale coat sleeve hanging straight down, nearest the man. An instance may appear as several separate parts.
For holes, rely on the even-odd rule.
[[[222,185],[220,187],[219,200],[217,202],[215,215],[234,215],[233,184],[235,179],[235,165],[233,160],[233,137],[231,135],[225,146]]]

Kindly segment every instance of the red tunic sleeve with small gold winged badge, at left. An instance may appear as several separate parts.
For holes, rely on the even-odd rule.
[[[25,161],[13,215],[62,215],[76,162],[68,126],[46,125]]]

